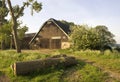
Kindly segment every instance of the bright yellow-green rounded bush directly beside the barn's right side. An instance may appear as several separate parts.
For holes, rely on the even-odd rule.
[[[78,25],[72,28],[70,37],[75,49],[85,50],[94,49],[96,47],[98,37],[93,28],[89,28],[87,25]]]

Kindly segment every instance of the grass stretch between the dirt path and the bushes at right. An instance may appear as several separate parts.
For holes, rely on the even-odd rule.
[[[120,73],[120,53],[105,51],[101,54],[99,51],[76,51],[75,56],[93,61],[99,66]]]

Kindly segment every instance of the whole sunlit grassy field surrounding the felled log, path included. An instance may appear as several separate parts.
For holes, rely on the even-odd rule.
[[[57,54],[76,57],[78,64],[69,68],[48,68],[27,76],[15,76],[11,65],[16,61],[44,59]],[[0,82],[120,82],[120,53],[72,50],[0,51]]]

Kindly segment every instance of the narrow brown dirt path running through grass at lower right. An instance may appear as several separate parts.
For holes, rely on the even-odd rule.
[[[80,59],[80,58],[79,58],[79,59]],[[87,63],[87,64],[90,64],[90,65],[92,65],[92,66],[95,66],[95,67],[101,69],[104,73],[109,74],[109,76],[110,76],[111,78],[114,78],[114,79],[116,79],[116,80],[120,80],[120,73],[117,73],[117,72],[115,72],[115,71],[111,71],[111,70],[109,70],[109,69],[102,68],[101,66],[99,66],[98,64],[96,64],[94,61],[90,61],[90,60],[88,60],[88,59],[80,59],[80,60],[82,60],[83,62],[85,62],[85,63]]]

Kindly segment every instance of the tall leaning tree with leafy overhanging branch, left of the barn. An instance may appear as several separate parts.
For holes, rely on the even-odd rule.
[[[10,15],[12,18],[12,33],[13,33],[13,38],[15,42],[15,48],[18,53],[21,52],[20,45],[19,45],[19,40],[18,40],[18,35],[17,35],[17,20],[19,17],[23,16],[23,11],[26,7],[31,6],[32,8],[32,14],[33,10],[36,12],[39,12],[42,8],[42,4],[38,3],[35,0],[28,0],[26,2],[23,2],[23,6],[16,5],[15,7],[12,6],[11,0],[7,0],[8,3],[8,8],[10,11]],[[15,8],[15,9],[14,9]]]

